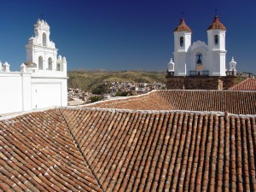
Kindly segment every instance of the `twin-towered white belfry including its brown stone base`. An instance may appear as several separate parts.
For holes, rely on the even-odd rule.
[[[174,61],[168,63],[168,89],[226,90],[235,83],[236,67],[226,70],[226,27],[216,15],[207,28],[207,44],[191,44],[192,31],[181,19],[174,29]],[[234,61],[234,59],[233,59]]]

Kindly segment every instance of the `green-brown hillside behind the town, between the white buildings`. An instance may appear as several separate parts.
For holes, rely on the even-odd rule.
[[[93,90],[102,82],[137,82],[137,83],[165,83],[166,72],[143,72],[143,71],[70,71],[67,86],[81,90]]]

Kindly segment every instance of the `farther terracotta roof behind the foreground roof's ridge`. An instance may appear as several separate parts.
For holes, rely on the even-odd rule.
[[[256,91],[158,90],[142,96],[97,102],[90,107],[256,114]]]

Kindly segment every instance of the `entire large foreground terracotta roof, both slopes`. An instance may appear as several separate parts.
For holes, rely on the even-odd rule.
[[[256,116],[61,108],[0,121],[0,190],[256,190]]]

